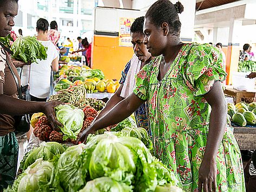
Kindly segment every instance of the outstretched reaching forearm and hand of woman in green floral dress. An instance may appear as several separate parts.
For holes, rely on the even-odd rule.
[[[86,142],[88,134],[92,134],[98,129],[105,128],[123,121],[125,118],[129,117],[132,112],[137,110],[139,106],[142,105],[144,102],[144,100],[141,100],[135,94],[130,94],[127,98],[125,98],[125,100],[119,102],[103,117],[98,118],[98,120],[96,121],[93,121],[93,123],[82,132],[82,135],[79,137],[78,142]]]

